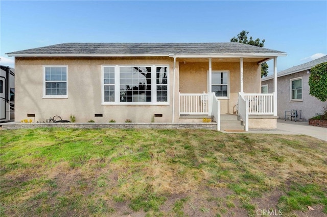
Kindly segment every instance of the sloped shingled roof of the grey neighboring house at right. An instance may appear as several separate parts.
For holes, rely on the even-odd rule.
[[[277,73],[277,77],[283,77],[283,76],[291,75],[294,73],[299,73],[300,71],[311,69],[312,67],[314,67],[320,63],[323,63],[323,62],[327,62],[327,55],[320,57],[318,59],[312,60],[310,62],[303,63],[303,64],[297,65],[297,66],[293,66],[293,67],[285,69],[283,71],[279,71],[279,73]],[[267,81],[267,80],[273,79],[273,77],[274,76],[271,75],[271,76],[267,76],[266,78],[262,78],[261,80]]]

